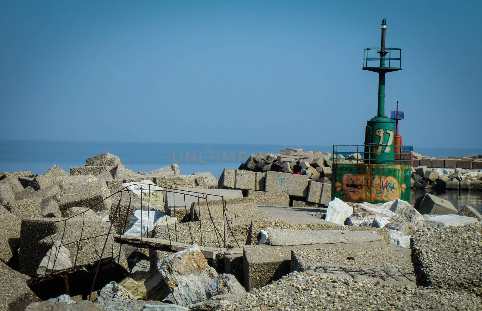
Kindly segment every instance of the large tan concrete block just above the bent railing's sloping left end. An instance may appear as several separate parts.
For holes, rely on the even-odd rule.
[[[112,202],[105,181],[74,184],[60,192],[59,207],[62,213],[69,207],[94,208],[95,211],[109,213]]]

